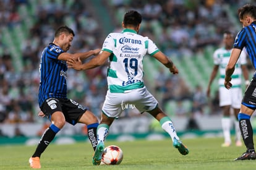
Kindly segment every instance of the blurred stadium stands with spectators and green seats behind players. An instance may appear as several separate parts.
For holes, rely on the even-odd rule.
[[[148,36],[180,70],[171,75],[145,57],[145,83],[170,116],[221,114],[218,85],[205,90],[212,54],[224,30],[237,33],[237,8],[247,0],[0,0],[0,123],[42,122],[37,116],[41,51],[61,25],[75,38],[69,53],[101,48],[109,32],[121,32],[124,13],[143,15],[140,34]],[[249,69],[251,67],[249,66]],[[107,90],[106,66],[68,72],[69,98],[100,116]],[[122,117],[139,116],[128,109]]]

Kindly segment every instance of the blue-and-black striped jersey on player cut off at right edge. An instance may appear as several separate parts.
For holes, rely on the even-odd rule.
[[[242,30],[237,33],[233,48],[242,50],[244,47],[250,57],[250,61],[252,61],[256,69],[256,22],[252,22],[252,24],[242,28]]]

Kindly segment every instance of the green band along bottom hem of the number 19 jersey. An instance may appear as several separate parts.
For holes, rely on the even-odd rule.
[[[111,93],[124,93],[126,90],[133,90],[136,88],[142,88],[144,87],[143,82],[137,82],[126,86],[121,85],[109,85],[109,90]]]

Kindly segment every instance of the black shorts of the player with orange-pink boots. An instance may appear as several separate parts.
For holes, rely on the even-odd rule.
[[[48,98],[43,102],[40,109],[49,119],[51,119],[51,115],[54,112],[61,111],[66,122],[72,125],[77,124],[83,113],[87,111],[87,108],[81,104],[67,98]]]

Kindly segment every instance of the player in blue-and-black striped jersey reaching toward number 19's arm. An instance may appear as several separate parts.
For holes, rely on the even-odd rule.
[[[47,116],[51,121],[49,128],[45,130],[40,142],[29,159],[32,168],[41,168],[40,156],[48,147],[64,124],[75,125],[82,123],[87,125],[88,138],[93,150],[97,145],[96,128],[98,119],[87,108],[67,98],[67,60],[86,59],[100,53],[100,49],[94,49],[85,53],[67,53],[75,34],[67,26],[59,27],[54,35],[53,43],[50,43],[41,54],[40,62],[40,88],[38,103],[41,112],[38,116]]]

